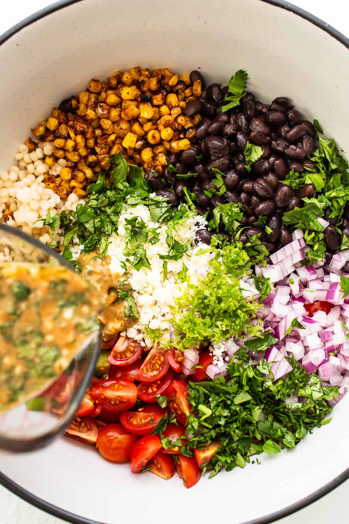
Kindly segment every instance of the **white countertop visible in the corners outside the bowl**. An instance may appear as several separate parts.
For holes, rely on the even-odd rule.
[[[17,24],[23,18],[45,7],[50,0],[11,0],[2,2],[0,35]],[[294,0],[294,4],[326,20],[328,24],[349,36],[349,5],[343,0]],[[6,79],[3,79],[6,81]],[[347,493],[349,480],[336,488],[329,495],[318,500],[296,514],[279,520],[279,524],[329,524],[334,520],[349,520]],[[1,524],[61,524],[63,520],[47,515],[13,495],[0,486],[0,522]]]

